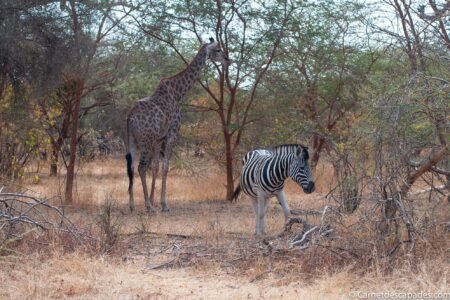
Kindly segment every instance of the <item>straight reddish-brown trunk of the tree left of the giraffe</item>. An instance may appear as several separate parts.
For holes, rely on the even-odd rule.
[[[84,82],[78,79],[76,83],[76,93],[74,98],[74,108],[72,111],[72,130],[70,133],[70,156],[67,166],[65,204],[72,204],[73,181],[75,179],[75,163],[78,144],[78,118],[80,116],[80,104],[83,93]]]

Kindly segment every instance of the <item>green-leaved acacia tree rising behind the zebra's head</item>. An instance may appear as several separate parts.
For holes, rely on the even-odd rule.
[[[277,130],[311,138],[311,165],[321,152],[345,142],[360,115],[360,87],[380,56],[358,37],[362,7],[354,2],[316,1],[306,13],[293,14],[283,55],[264,87],[285,99]],[[281,96],[281,97],[280,97]]]

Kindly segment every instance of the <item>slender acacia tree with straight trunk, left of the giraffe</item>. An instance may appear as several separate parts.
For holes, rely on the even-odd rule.
[[[63,70],[65,84],[72,88],[70,110],[70,156],[67,166],[65,201],[72,202],[73,181],[75,178],[76,149],[79,140],[79,118],[82,100],[99,86],[111,82],[114,72],[102,73],[96,64],[113,44],[113,35],[133,8],[116,1],[62,1],[67,12],[67,28],[71,34],[71,63]],[[119,8],[120,13],[115,14]],[[102,105],[90,105],[90,108]]]

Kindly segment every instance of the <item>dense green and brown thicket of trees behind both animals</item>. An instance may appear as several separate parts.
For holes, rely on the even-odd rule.
[[[369,184],[389,219],[424,174],[448,197],[448,16],[435,0],[2,1],[1,176],[47,156],[70,202],[75,164],[120,152],[131,104],[213,37],[234,63],[188,95],[181,145],[223,167],[225,196],[246,150],[300,142],[342,205]]]

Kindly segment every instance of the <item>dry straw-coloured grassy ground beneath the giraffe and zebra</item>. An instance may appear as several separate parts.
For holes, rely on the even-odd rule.
[[[304,195],[294,184],[287,185],[291,208],[330,204],[324,199],[330,170],[319,172],[318,193]],[[379,257],[373,247],[360,249],[367,251],[364,259],[321,247],[290,249],[289,236],[267,247],[253,236],[250,201],[223,200],[223,176],[169,176],[170,213],[146,214],[139,182],[137,211],[130,213],[124,162],[85,164],[77,177],[75,203],[66,213],[103,238],[99,216],[105,199],[112,199],[114,217],[121,224],[119,240],[107,252],[95,243],[72,245],[54,233],[23,241],[17,245],[23,255],[0,257],[0,299],[348,299],[355,291],[449,292],[450,248],[443,230],[436,229],[440,240],[428,237],[418,245],[418,253],[399,256],[394,263],[366,259]],[[63,182],[41,176],[28,187],[58,202],[54,196],[62,194]],[[448,206],[440,211],[448,218]],[[283,227],[275,200],[267,221],[269,234]],[[353,224],[358,224],[357,214],[347,216],[342,226],[359,237],[370,233],[358,232]]]

